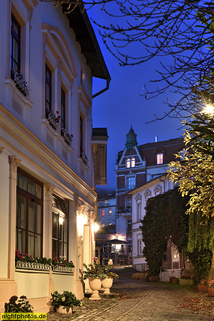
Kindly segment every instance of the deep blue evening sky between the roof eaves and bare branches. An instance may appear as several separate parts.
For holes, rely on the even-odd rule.
[[[107,24],[109,20],[98,7],[88,10],[88,15],[98,23]],[[138,145],[154,142],[156,135],[158,141],[180,137],[184,131],[178,130],[181,127],[179,119],[169,117],[145,124],[155,119],[154,114],[161,117],[164,115],[164,111],[169,110],[167,104],[163,102],[167,101],[167,97],[171,103],[179,99],[179,96],[169,91],[150,100],[140,96],[145,93],[144,84],[149,86],[150,90],[155,90],[157,87],[157,83],[150,83],[150,80],[158,79],[155,69],[159,68],[160,59],[156,57],[141,65],[121,67],[117,59],[103,44],[98,27],[93,22],[92,26],[112,79],[109,90],[93,99],[93,127],[107,127],[109,136],[107,143],[107,187],[115,188],[116,154],[124,149],[126,134],[131,124],[137,134]],[[140,50],[140,45],[135,43],[132,48],[129,48],[129,53],[135,54]],[[165,61],[169,61],[169,58],[167,57]],[[159,88],[163,86],[161,83],[159,85]],[[93,93],[105,87],[104,80],[94,78]]]

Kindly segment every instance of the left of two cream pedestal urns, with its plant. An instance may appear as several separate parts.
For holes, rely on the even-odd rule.
[[[97,270],[93,267],[92,264],[86,265],[83,263],[86,271],[83,271],[84,277],[83,280],[89,280],[89,286],[92,290],[92,295],[90,296],[89,300],[100,300],[98,290],[101,288],[102,279],[105,278],[105,274],[101,269],[100,265],[97,265]]]

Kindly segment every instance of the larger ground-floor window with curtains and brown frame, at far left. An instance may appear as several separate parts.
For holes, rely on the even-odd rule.
[[[27,173],[17,171],[16,249],[42,256],[43,186]]]

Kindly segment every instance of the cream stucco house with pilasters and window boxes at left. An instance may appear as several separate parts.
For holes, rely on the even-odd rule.
[[[0,29],[0,311],[25,295],[47,312],[54,290],[79,299],[89,291],[82,270],[93,262],[93,187],[107,183],[108,139],[92,128],[92,99],[111,78],[80,6],[65,14],[49,2],[2,0]],[[107,84],[92,96],[93,77]],[[75,269],[15,266],[15,250]]]

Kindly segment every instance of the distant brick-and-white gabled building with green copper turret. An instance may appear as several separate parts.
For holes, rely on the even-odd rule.
[[[183,150],[184,147],[183,138],[138,145],[137,135],[132,126],[126,135],[125,148],[118,152],[116,158],[116,232],[119,232],[123,240],[129,241],[130,246],[137,243],[133,239],[136,237],[135,234],[132,235],[132,239],[129,237],[129,225],[135,224],[137,217],[139,225],[145,206],[138,199],[133,199],[130,191],[144,186],[154,178],[160,177],[160,175],[164,175],[168,163],[175,160],[174,154]],[[141,197],[146,199],[151,196],[151,193],[158,193],[160,190],[164,192],[174,187],[165,176],[163,180],[164,182],[161,183],[160,181],[160,184],[156,184],[157,190],[152,192],[150,189],[145,190]],[[136,202],[138,204],[138,216],[134,214],[135,221],[133,221],[133,206]],[[137,237],[139,237],[139,240],[141,239],[140,234]],[[132,254],[136,256],[137,253],[139,253],[139,250],[133,248]]]

